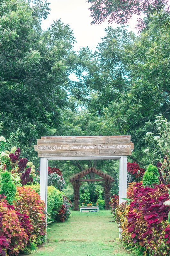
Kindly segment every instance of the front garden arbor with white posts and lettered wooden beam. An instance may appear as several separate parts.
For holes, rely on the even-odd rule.
[[[34,146],[40,157],[40,196],[47,210],[48,160],[119,159],[119,203],[126,198],[130,136],[41,137]]]

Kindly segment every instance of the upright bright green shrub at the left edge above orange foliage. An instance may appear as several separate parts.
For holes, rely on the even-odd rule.
[[[16,193],[16,186],[8,171],[1,174],[0,187],[0,194],[4,194],[8,203],[12,204]]]

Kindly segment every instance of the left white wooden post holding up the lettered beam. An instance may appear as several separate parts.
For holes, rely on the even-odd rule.
[[[40,158],[40,197],[46,204],[47,212],[47,181],[48,181],[48,161],[47,157]]]

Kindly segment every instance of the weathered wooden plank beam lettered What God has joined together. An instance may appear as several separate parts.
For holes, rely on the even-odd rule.
[[[34,147],[38,157],[128,156],[134,149],[130,136],[41,137]]]

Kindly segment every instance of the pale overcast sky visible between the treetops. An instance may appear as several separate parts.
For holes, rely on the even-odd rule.
[[[105,35],[104,29],[108,26],[107,22],[103,24],[91,25],[89,4],[86,0],[49,0],[51,2],[50,14],[47,20],[42,22],[42,29],[47,29],[54,20],[61,19],[64,24],[70,24],[75,35],[77,43],[74,45],[74,50],[78,51],[81,47],[90,47],[95,49],[101,37]],[[136,32],[135,29],[136,17],[130,21],[130,29]],[[117,26],[112,24],[112,27]]]

